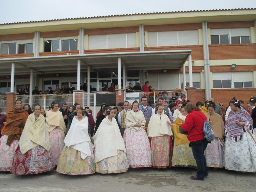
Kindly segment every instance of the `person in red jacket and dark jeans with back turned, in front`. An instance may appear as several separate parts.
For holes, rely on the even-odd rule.
[[[206,158],[204,156],[204,150],[206,149],[208,142],[204,138],[204,120],[207,117],[196,107],[193,103],[188,103],[185,106],[185,110],[188,115],[185,119],[185,123],[181,124],[181,129],[187,132],[187,138],[189,140],[189,146],[192,149],[193,156],[196,160],[197,172],[196,175],[191,176],[193,180],[204,180],[205,176],[208,176],[208,170],[206,167]]]

